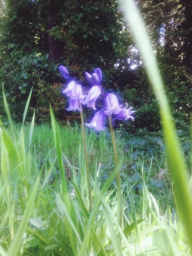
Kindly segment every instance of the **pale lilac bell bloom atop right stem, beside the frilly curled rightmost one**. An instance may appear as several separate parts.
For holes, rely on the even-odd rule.
[[[113,93],[108,93],[105,98],[105,107],[104,111],[106,115],[117,115],[122,110],[122,105],[119,105],[117,97]]]

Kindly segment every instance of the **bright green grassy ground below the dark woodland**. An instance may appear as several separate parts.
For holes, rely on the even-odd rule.
[[[123,229],[120,229],[116,223],[117,170],[109,131],[86,130],[94,197],[93,209],[89,213],[80,128],[78,125],[57,127],[67,199],[51,127],[14,125],[13,130],[6,128],[6,139],[13,141],[14,146],[18,144],[21,154],[17,160],[20,159],[20,163],[10,159],[10,166],[10,152],[7,153],[4,147],[5,135],[1,135],[2,255],[188,253],[181,222],[177,218],[161,137],[146,133],[142,136],[140,132],[138,136],[129,134],[128,139],[126,132],[116,130],[118,151],[123,158],[119,166],[124,207]],[[147,144],[150,144],[150,150],[146,149]],[[14,161],[17,162],[15,165]],[[7,175],[6,171],[9,172]],[[14,249],[16,244],[18,252]]]

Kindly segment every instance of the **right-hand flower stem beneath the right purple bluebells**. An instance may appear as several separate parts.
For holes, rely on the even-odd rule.
[[[114,153],[114,159],[115,159],[115,167],[118,165],[118,153],[117,153],[117,145],[116,145],[116,139],[115,139],[115,132],[114,132],[114,127],[112,125],[112,117],[111,115],[108,115],[108,120],[109,120],[109,128],[111,132],[111,137],[112,137],[112,146],[113,146],[113,153]],[[118,209],[120,210],[119,213],[119,226],[122,228],[122,196],[121,196],[121,173],[120,170],[117,173],[116,176],[117,179],[117,203],[118,203]]]

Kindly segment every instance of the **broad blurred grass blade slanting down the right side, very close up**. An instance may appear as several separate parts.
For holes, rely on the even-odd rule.
[[[174,181],[174,190],[179,213],[182,216],[185,231],[192,248],[192,200],[188,189],[187,171],[181,148],[176,137],[176,128],[172,120],[170,107],[163,90],[163,82],[159,74],[158,65],[153,55],[149,36],[138,13],[133,0],[122,1],[125,9],[125,16],[132,27],[135,40],[145,61],[147,74],[150,78],[156,98],[159,102],[161,120],[165,142],[167,145],[168,161]]]

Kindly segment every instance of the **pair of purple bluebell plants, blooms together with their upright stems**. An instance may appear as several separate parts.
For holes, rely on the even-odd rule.
[[[66,67],[60,66],[59,71],[65,80],[68,81],[70,79],[69,72]],[[102,72],[100,68],[96,68],[93,74],[89,74],[88,72],[85,72],[85,77],[87,79],[87,82],[92,85],[92,88],[89,90],[87,95],[83,95],[81,86],[78,83],[76,83],[74,79],[71,79],[71,81],[67,85],[67,88],[63,90],[63,93],[67,94],[67,96],[69,97],[69,108],[67,108],[67,110],[69,111],[79,110],[81,113],[82,135],[83,135],[83,141],[84,141],[83,143],[84,143],[85,162],[86,162],[86,168],[87,168],[87,180],[88,180],[88,186],[89,186],[89,207],[91,209],[92,195],[91,195],[91,185],[89,181],[89,166],[88,166],[87,148],[86,148],[86,141],[85,141],[82,104],[87,105],[88,108],[93,108],[94,110],[96,110],[96,106],[95,106],[96,100],[98,99],[100,94],[103,95],[105,100],[105,106],[103,107],[103,109],[97,111],[91,123],[90,124],[86,123],[86,125],[89,128],[94,128],[97,131],[105,130],[106,129],[106,127],[104,127],[105,117],[108,116],[116,166],[118,166],[118,155],[117,155],[116,141],[114,136],[115,120],[116,119],[118,120],[132,119],[134,121],[134,117],[132,117],[132,114],[134,113],[134,111],[131,110],[132,107],[127,109],[127,103],[126,103],[126,107],[123,108],[122,105],[118,103],[118,99],[115,94],[104,93],[103,88],[100,85],[102,81]],[[121,195],[120,173],[118,173],[117,175],[117,187],[118,187],[118,192]],[[120,208],[121,207],[122,206],[120,205]],[[122,220],[120,218],[119,223],[121,222]]]

